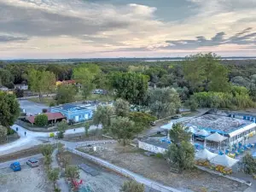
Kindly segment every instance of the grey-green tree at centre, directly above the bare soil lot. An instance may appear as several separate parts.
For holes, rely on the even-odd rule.
[[[117,117],[111,119],[110,131],[125,146],[140,130],[129,118]]]

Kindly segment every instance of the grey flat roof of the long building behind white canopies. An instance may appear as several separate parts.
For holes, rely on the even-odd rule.
[[[247,125],[253,124],[253,121],[245,119],[235,119],[218,114],[207,113],[200,117],[189,119],[183,122],[186,126],[196,126],[199,129],[207,131],[218,131],[219,133],[229,134],[239,130]]]

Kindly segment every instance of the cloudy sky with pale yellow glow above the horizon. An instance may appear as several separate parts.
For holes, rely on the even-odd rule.
[[[256,56],[256,0],[0,0],[0,59]]]

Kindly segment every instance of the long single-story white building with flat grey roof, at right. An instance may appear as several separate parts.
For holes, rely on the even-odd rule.
[[[227,143],[234,144],[251,137],[255,134],[256,124],[253,119],[236,118],[237,115],[224,112],[209,112],[200,117],[183,122],[187,127],[206,130],[210,133],[218,132],[228,137]]]

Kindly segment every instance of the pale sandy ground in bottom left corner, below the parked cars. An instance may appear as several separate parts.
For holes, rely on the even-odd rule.
[[[12,172],[9,168],[0,170],[1,192],[52,192],[51,186],[43,166],[22,166],[20,172]]]

